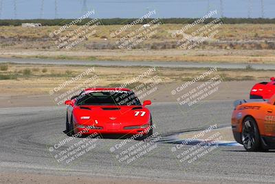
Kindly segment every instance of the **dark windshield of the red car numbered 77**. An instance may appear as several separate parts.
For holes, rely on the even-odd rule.
[[[102,91],[80,96],[76,105],[141,105],[141,103],[132,91]]]

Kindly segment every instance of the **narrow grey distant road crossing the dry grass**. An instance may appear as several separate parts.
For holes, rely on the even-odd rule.
[[[101,66],[146,66],[146,67],[165,67],[165,68],[229,68],[244,69],[246,63],[192,63],[177,61],[77,61],[77,60],[56,60],[56,59],[16,59],[0,58],[0,63],[31,63],[31,64],[49,64],[49,65],[101,65]],[[275,64],[250,64],[254,69],[275,70]]]

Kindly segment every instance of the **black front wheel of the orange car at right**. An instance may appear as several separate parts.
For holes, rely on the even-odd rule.
[[[248,116],[243,121],[241,141],[245,150],[254,152],[261,150],[261,136],[256,121]]]

